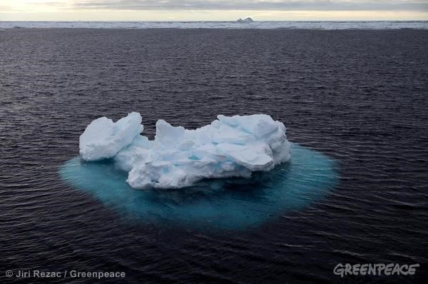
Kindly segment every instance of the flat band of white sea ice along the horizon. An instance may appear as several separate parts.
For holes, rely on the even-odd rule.
[[[0,29],[428,29],[428,21],[0,21]]]

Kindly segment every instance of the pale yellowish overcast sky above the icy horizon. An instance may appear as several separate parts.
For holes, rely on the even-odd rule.
[[[428,20],[428,0],[0,0],[0,21]]]

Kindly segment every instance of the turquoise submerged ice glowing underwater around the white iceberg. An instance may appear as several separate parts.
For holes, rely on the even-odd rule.
[[[302,210],[324,198],[339,176],[337,163],[324,154],[292,143],[292,158],[252,178],[209,179],[188,188],[135,190],[127,173],[110,160],[72,158],[61,166],[63,181],[91,193],[127,218],[148,223],[245,229],[287,211]]]

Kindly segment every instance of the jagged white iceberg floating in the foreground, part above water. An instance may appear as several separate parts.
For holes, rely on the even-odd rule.
[[[290,160],[286,128],[265,114],[217,116],[207,126],[185,129],[158,120],[156,136],[141,135],[141,115],[116,123],[92,121],[80,137],[84,161],[112,159],[128,172],[131,188],[183,188],[204,178],[249,178]]]

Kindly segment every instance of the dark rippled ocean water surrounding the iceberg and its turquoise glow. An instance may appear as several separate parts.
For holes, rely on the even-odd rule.
[[[428,31],[412,29],[1,32],[1,283],[19,269],[124,271],[128,283],[424,283],[427,46]],[[219,113],[270,114],[290,141],[334,158],[340,183],[250,230],[123,219],[58,168],[90,121],[130,111],[148,136],[159,118],[196,128]],[[340,278],[337,263],[421,267]],[[65,281],[96,282],[51,280]]]

